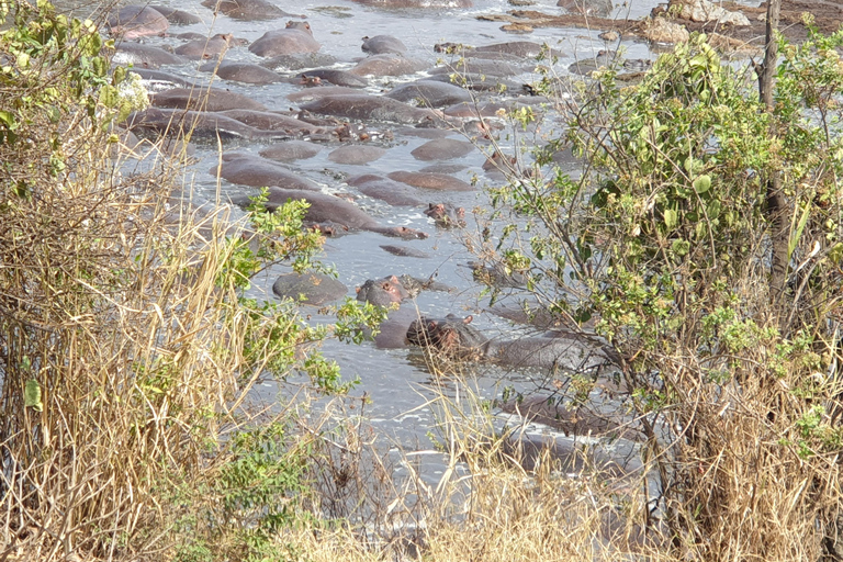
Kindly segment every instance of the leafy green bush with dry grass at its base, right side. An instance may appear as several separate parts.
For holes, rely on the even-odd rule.
[[[532,173],[492,191],[515,214],[502,260],[530,263],[542,306],[616,353],[660,475],[659,518],[640,521],[676,555],[811,558],[836,510],[842,44],[785,45],[773,113],[705,35],[634,86],[605,69]],[[586,162],[576,178],[551,166],[565,148]],[[780,295],[772,173],[790,225]]]

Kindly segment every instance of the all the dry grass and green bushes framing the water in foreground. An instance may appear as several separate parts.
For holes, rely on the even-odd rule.
[[[843,559],[843,32],[779,37],[760,77],[702,35],[631,86],[607,68],[567,95],[544,67],[565,133],[492,190],[480,244],[529,276],[527,312],[617,358],[642,470],[528,471],[452,381],[432,486],[409,459],[395,480],[360,417],[252,400],[299,372],[341,395],[314,346],[382,318],[247,296],[270,265],[322,267],[303,204],[236,221],[184,204],[169,160],[130,172],[117,126],[146,101],[95,23],[46,0],[0,20],[0,560]],[[555,374],[575,413],[608,376]]]

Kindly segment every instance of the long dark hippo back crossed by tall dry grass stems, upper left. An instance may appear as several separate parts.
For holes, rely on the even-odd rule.
[[[153,131],[158,134],[180,136],[190,133],[191,138],[238,140],[272,139],[272,132],[258,131],[245,123],[218,113],[149,108],[130,115],[130,127]]]

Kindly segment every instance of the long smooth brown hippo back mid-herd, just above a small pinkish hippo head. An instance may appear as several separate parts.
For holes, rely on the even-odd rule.
[[[417,124],[441,120],[440,114],[432,110],[413,108],[389,98],[364,93],[326,95],[300,106],[313,113],[361,121],[390,121],[394,123]]]

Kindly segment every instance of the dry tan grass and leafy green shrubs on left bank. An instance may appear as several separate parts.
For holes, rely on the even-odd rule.
[[[247,290],[271,265],[321,268],[303,204],[168,209],[169,162],[120,173],[115,126],[147,101],[95,22],[44,0],[0,18],[2,557],[296,558],[267,537],[303,517],[308,451],[289,424],[245,426],[250,390],[349,383],[314,350],[333,327]],[[374,315],[348,306],[337,334]]]

